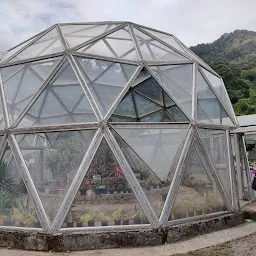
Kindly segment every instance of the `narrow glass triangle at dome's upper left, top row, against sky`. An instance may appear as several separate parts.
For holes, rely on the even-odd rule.
[[[60,41],[57,29],[53,28],[8,62],[25,60],[62,51],[64,51],[64,48]]]

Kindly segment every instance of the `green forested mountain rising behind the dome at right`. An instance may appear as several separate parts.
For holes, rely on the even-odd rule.
[[[256,114],[256,32],[235,30],[190,49],[222,76],[237,115]]]

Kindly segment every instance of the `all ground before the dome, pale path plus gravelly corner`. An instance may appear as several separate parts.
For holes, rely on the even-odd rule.
[[[231,243],[227,243],[224,245],[220,245],[222,243],[226,243],[234,239],[239,239],[239,240],[232,241]],[[251,256],[251,255],[256,255],[256,246],[254,246],[255,239],[256,239],[256,222],[248,222],[234,228],[224,229],[224,230],[216,231],[210,234],[198,236],[187,241],[182,241],[174,244],[166,244],[162,246],[80,251],[80,252],[70,252],[70,253],[29,252],[29,251],[21,251],[21,250],[0,249],[0,256],[46,256],[46,255],[47,256],[50,256],[50,255],[52,256],[68,256],[68,255],[70,256],[138,256],[138,255],[170,256],[175,254],[177,255],[177,253],[187,253],[187,252],[190,252],[190,253],[183,254],[183,255],[184,256],[185,255],[186,256],[188,255]],[[206,248],[206,247],[216,246],[216,245],[217,247]],[[206,248],[206,249],[202,252],[202,250],[201,251],[199,250],[202,248]],[[220,251],[220,249],[222,249],[222,251]],[[199,251],[196,251],[196,250],[199,250]],[[194,251],[194,252],[191,252],[191,251]],[[198,254],[198,253],[201,253],[201,254]],[[212,254],[209,254],[209,253],[212,253]],[[230,253],[233,253],[233,254],[230,254]]]

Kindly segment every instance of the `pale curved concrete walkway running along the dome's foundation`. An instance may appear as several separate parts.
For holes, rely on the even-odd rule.
[[[80,251],[70,253],[29,252],[20,250],[0,249],[0,256],[169,256],[174,253],[184,253],[204,247],[228,242],[256,233],[256,222],[246,222],[243,225],[198,236],[187,241],[166,244],[155,247],[140,247],[126,249],[108,249]]]

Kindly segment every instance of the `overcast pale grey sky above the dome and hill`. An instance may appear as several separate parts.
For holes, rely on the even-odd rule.
[[[105,20],[160,29],[192,46],[256,31],[256,0],[0,0],[0,51],[55,23]]]

